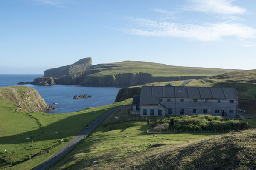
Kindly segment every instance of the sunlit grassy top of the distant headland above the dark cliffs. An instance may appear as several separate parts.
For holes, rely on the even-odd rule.
[[[109,64],[93,65],[90,70],[98,69],[100,72],[92,75],[113,75],[118,73],[149,73],[152,76],[212,76],[224,74],[232,71],[232,69],[217,68],[195,68],[180,67],[153,62],[140,61],[123,61]],[[203,73],[203,74],[202,74]]]

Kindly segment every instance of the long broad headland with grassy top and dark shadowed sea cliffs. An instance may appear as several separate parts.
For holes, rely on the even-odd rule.
[[[35,85],[133,86],[151,82],[206,78],[229,73],[232,69],[196,68],[165,65],[153,62],[124,61],[92,65],[86,71],[59,77],[35,79]],[[51,71],[51,74],[55,73]],[[45,75],[46,76],[46,75]],[[49,76],[49,74],[47,74]],[[49,81],[47,80],[49,79]],[[52,82],[53,79],[53,82]],[[49,83],[50,82],[50,83]]]

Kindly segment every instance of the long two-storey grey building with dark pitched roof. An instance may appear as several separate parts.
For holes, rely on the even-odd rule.
[[[173,116],[208,114],[236,117],[238,98],[232,87],[142,86],[131,114]]]

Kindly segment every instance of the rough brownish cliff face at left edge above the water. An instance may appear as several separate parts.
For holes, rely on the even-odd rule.
[[[26,86],[0,88],[0,97],[8,99],[28,112],[49,112],[54,109],[48,106],[38,91]]]

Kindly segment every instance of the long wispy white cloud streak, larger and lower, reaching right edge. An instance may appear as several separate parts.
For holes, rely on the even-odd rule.
[[[201,41],[221,40],[223,37],[238,39],[256,38],[256,29],[233,23],[182,24],[132,19],[139,28],[124,30],[130,34],[157,37],[181,37]]]

